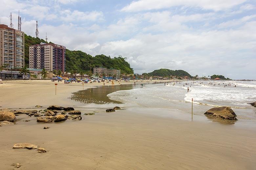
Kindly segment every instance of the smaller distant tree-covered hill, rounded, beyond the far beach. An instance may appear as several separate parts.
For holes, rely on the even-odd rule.
[[[188,74],[186,71],[183,70],[169,70],[165,68],[161,68],[159,70],[154,70],[151,73],[148,73],[149,76],[161,76],[161,77],[166,77],[166,76],[188,76],[192,77],[190,74]]]

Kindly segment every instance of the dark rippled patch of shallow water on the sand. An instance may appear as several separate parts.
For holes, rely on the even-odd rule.
[[[130,90],[134,87],[135,86],[133,84],[126,84],[122,86],[101,86],[75,92],[70,98],[86,104],[121,104],[122,102],[111,100],[107,95],[119,90]]]

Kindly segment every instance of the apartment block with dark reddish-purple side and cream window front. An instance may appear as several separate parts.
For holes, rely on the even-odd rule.
[[[29,46],[29,67],[65,71],[66,47],[54,43],[40,43]]]

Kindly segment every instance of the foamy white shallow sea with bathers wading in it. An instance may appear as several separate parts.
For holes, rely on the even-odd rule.
[[[111,100],[122,102],[126,107],[172,110],[169,114],[178,112],[179,116],[191,114],[193,98],[195,115],[202,116],[213,107],[229,106],[237,114],[238,120],[256,121],[256,108],[248,105],[256,101],[256,81],[201,80],[169,82],[164,85],[146,84],[139,80],[136,86],[140,86],[140,83],[144,83],[143,88],[119,90],[107,96]]]

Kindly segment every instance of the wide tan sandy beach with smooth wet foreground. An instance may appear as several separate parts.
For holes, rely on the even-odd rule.
[[[55,95],[54,83],[58,82],[18,80],[0,84],[1,108],[73,106],[81,110],[83,118],[37,123],[36,117],[20,114],[15,125],[0,127],[0,169],[13,169],[12,163],[20,163],[21,170],[253,170],[256,167],[254,128],[156,116],[153,113],[167,110],[152,108],[126,108],[113,113],[95,108],[95,115],[86,116],[83,113],[92,110],[70,99],[73,92],[83,89],[82,84],[59,82]],[[133,84],[133,81],[121,83]],[[84,89],[100,85],[103,83],[85,84]],[[50,128],[43,129],[44,126]],[[47,153],[12,149],[16,143],[36,144]]]

